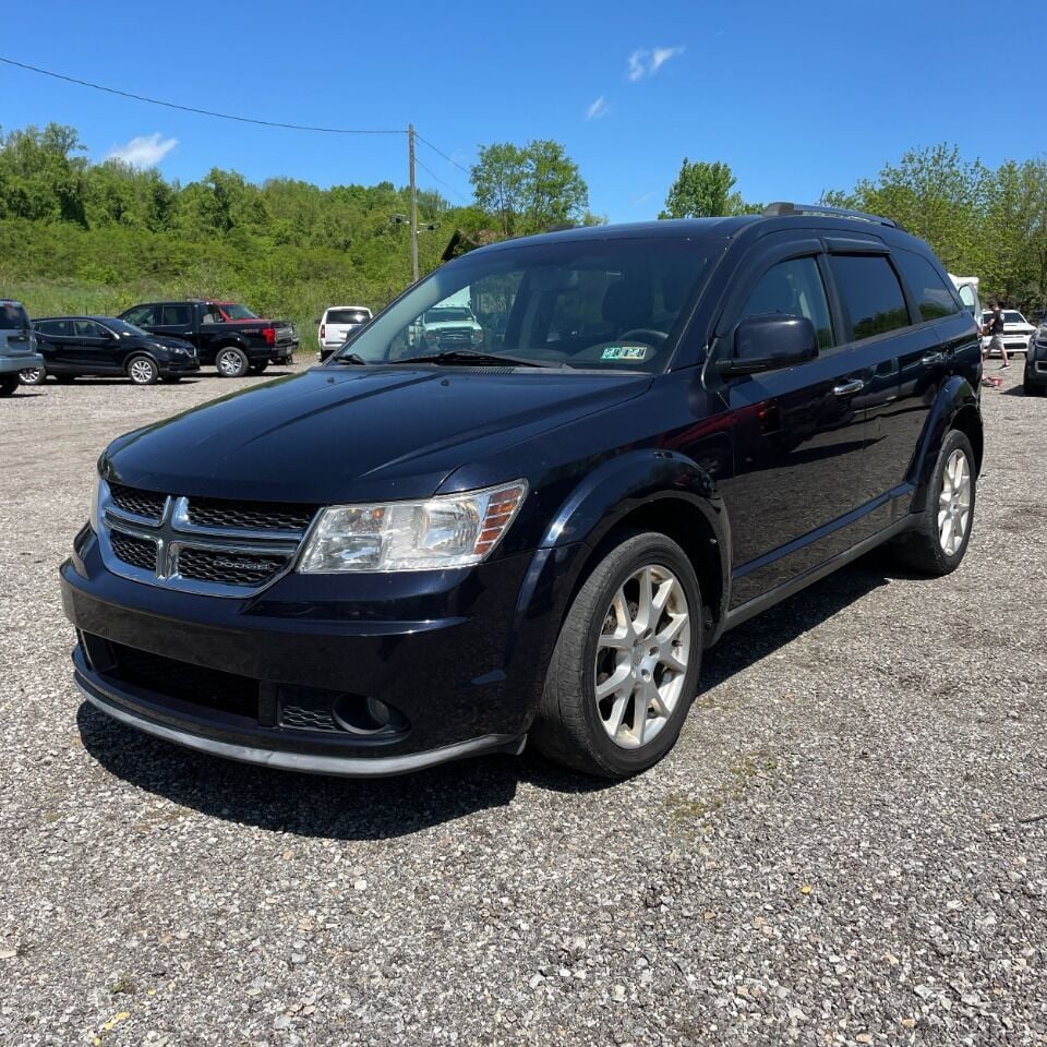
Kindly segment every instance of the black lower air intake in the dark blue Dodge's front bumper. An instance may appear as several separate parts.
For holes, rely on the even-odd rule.
[[[204,669],[174,658],[140,651],[122,643],[109,645],[115,674],[132,686],[181,701],[257,719],[258,682],[249,676]]]

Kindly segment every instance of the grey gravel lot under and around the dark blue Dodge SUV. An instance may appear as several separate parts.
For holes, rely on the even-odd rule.
[[[1047,1043],[1047,400],[1020,374],[984,398],[964,566],[867,559],[729,635],[676,750],[611,787],[533,755],[298,777],[110,722],[56,577],[95,459],[265,380],[0,402],[0,1042]]]

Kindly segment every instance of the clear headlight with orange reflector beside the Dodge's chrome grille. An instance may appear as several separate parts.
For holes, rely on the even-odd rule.
[[[303,574],[438,570],[485,559],[509,529],[527,483],[443,495],[425,502],[333,505],[302,553]]]

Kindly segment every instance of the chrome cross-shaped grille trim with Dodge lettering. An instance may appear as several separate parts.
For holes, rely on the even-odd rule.
[[[312,527],[300,530],[242,530],[238,528],[198,527],[190,520],[191,498],[168,495],[163,515],[157,518],[136,516],[121,509],[112,501],[109,485],[99,480],[98,486],[98,541],[106,567],[115,575],[149,586],[177,589],[201,595],[231,597],[243,600],[261,592],[290,571],[298,559],[299,550]],[[318,510],[317,510],[318,512]],[[313,520],[316,513],[313,514]],[[125,534],[131,539],[145,540],[156,546],[156,569],[130,564],[117,555],[112,534]],[[251,583],[204,581],[186,578],[179,573],[179,555],[182,550],[198,550],[206,553],[245,554],[281,561],[282,566],[267,577]],[[188,565],[186,565],[188,569]]]

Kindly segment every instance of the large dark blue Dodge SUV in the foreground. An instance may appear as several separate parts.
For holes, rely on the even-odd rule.
[[[726,630],[967,546],[977,325],[927,244],[828,210],[472,251],[324,366],[117,438],[61,568],[77,685],[268,767],[650,767]],[[464,288],[496,349],[412,350]]]

